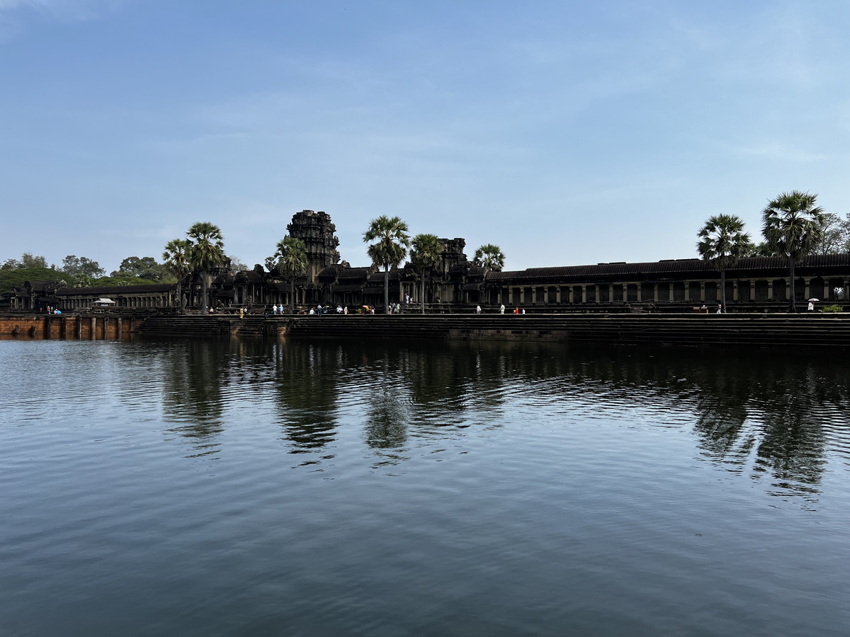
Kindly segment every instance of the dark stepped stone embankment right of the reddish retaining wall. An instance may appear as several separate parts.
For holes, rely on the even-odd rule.
[[[143,334],[611,342],[623,345],[850,347],[841,314],[150,317]]]

